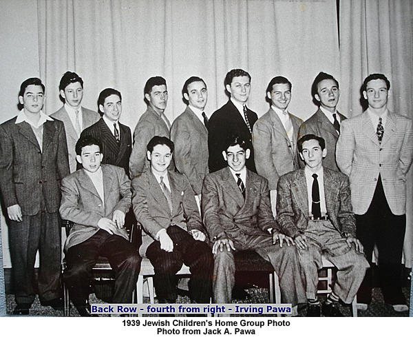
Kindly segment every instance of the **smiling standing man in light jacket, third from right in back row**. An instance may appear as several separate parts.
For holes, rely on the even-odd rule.
[[[266,90],[271,108],[258,119],[253,129],[257,173],[268,180],[271,208],[275,216],[278,178],[299,168],[297,134],[303,121],[287,111],[291,101],[291,82],[274,77]]]

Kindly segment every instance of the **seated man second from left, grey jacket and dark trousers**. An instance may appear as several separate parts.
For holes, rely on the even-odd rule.
[[[154,136],[147,145],[149,170],[132,181],[136,220],[149,236],[142,245],[155,270],[153,285],[159,303],[175,303],[182,263],[189,266],[189,297],[209,303],[213,271],[211,248],[205,243],[195,194],[186,176],[168,171],[173,142]]]

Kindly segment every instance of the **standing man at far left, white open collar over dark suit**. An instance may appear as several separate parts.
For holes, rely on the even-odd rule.
[[[40,79],[21,83],[21,112],[0,125],[0,190],[8,226],[14,294],[13,314],[29,314],[36,292],[34,261],[40,252],[39,298],[63,308],[60,287],[60,181],[69,174],[65,127],[44,114]]]

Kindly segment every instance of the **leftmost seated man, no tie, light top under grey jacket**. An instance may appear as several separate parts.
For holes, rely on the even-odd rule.
[[[74,223],[65,243],[63,280],[81,316],[90,316],[89,276],[99,256],[116,272],[113,303],[131,303],[141,258],[129,243],[125,214],[131,207],[131,182],[122,167],[100,165],[100,141],[81,136],[76,160],[83,169],[62,181],[61,217]]]

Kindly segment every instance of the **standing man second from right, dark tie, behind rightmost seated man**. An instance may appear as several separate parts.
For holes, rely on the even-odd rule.
[[[323,166],[330,170],[339,171],[335,159],[337,139],[339,139],[341,122],[346,116],[337,111],[340,90],[339,82],[325,72],[320,72],[311,87],[313,102],[319,107],[317,112],[299,127],[298,138],[306,134],[315,134],[326,141],[327,156],[323,161]],[[301,167],[305,166],[300,162]]]

